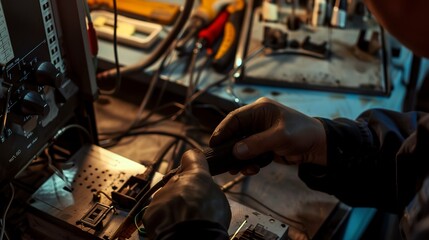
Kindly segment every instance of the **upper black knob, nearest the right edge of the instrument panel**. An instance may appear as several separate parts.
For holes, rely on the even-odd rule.
[[[64,74],[51,62],[39,63],[35,68],[35,74],[37,83],[55,88],[61,87],[64,80]]]

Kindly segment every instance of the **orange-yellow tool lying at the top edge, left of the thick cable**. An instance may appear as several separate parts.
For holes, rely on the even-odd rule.
[[[87,0],[91,8],[107,6],[113,9],[112,0]],[[165,2],[146,0],[117,0],[116,7],[119,11],[141,16],[149,21],[171,25],[180,13],[180,5]]]

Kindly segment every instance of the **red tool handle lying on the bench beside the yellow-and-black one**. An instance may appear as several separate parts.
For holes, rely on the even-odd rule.
[[[213,46],[213,43],[221,35],[228,17],[228,11],[223,10],[208,27],[198,33],[198,38],[205,41],[205,47]]]

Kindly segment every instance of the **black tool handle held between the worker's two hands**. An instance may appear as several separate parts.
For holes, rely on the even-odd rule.
[[[258,165],[259,167],[265,167],[274,159],[273,152],[267,152],[256,158],[247,160],[237,159],[232,153],[232,149],[236,142],[237,141],[230,141],[218,147],[205,148],[203,150],[212,176],[225,173],[230,170],[241,170],[246,166],[253,164]]]

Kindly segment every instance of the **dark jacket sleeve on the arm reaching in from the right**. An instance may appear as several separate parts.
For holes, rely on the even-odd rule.
[[[299,177],[351,206],[400,213],[428,169],[415,153],[415,132],[424,115],[373,109],[356,121],[319,118],[327,135],[327,166],[301,164]]]

